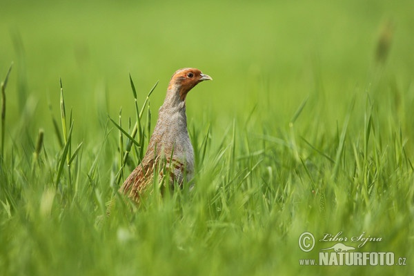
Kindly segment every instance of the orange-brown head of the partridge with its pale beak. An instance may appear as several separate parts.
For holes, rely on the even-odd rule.
[[[184,68],[177,70],[171,77],[168,90],[177,89],[181,101],[186,99],[187,93],[197,86],[201,81],[212,80],[212,78],[206,74],[203,74],[196,68]]]

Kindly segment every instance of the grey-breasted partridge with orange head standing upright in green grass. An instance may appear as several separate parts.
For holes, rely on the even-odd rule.
[[[139,203],[157,175],[172,187],[193,179],[194,150],[187,130],[186,97],[198,83],[209,80],[213,79],[197,68],[182,68],[172,75],[146,154],[119,188],[120,193]]]

